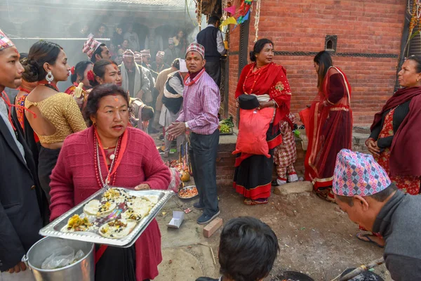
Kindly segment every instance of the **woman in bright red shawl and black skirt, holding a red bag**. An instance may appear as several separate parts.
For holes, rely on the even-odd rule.
[[[279,122],[290,110],[291,91],[286,78],[286,70],[272,62],[274,44],[269,39],[260,39],[250,52],[253,63],[241,71],[235,97],[243,94],[255,95],[259,100],[258,109],[274,107],[274,117],[266,133],[269,155],[240,153],[236,158],[234,188],[244,195],[244,204],[266,204],[272,188],[274,148],[281,144]],[[240,129],[241,130],[241,129]]]

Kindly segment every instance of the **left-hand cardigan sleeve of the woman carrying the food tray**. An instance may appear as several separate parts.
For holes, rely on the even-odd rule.
[[[55,220],[66,211],[74,207],[74,186],[72,181],[72,172],[66,161],[69,157],[69,145],[65,141],[60,155],[58,155],[57,164],[51,172],[50,195],[51,195],[51,216],[50,221]],[[71,156],[70,156],[71,157]]]

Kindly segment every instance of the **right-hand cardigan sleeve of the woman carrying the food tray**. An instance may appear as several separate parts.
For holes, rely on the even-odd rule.
[[[143,171],[145,178],[151,189],[168,189],[170,185],[170,169],[166,166],[159,155],[152,138],[145,138],[145,157],[143,157]]]

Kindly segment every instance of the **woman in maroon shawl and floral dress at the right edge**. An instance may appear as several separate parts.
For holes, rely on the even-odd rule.
[[[421,56],[408,58],[398,77],[403,88],[396,91],[374,116],[366,145],[400,190],[418,195],[421,176]],[[385,245],[385,240],[377,233],[358,233],[356,237],[380,247]]]

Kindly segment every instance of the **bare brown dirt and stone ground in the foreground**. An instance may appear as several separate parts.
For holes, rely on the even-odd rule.
[[[349,221],[347,214],[314,193],[287,196],[272,193],[269,204],[251,207],[243,204],[241,195],[232,187],[218,187],[218,195],[220,218],[224,223],[238,216],[253,216],[267,223],[276,233],[280,252],[265,280],[281,280],[278,277],[283,271],[295,270],[317,281],[329,281],[347,268],[355,268],[382,256],[382,249],[356,239],[358,226]],[[196,223],[201,211],[193,208],[196,200],[181,200],[175,196],[157,217],[162,235],[163,262],[155,280],[219,277],[218,244],[222,228],[210,238],[203,237],[203,226]],[[180,229],[166,226],[172,211],[187,208],[193,211],[185,214]],[[375,268],[374,272],[386,281],[392,280],[385,266]]]

